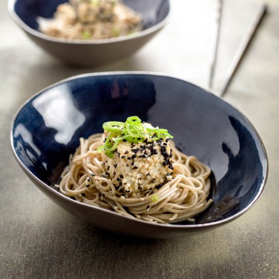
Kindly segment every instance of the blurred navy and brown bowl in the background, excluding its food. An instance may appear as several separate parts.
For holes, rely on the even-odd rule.
[[[104,40],[65,40],[41,33],[40,18],[51,18],[59,4],[66,0],[9,0],[8,8],[15,22],[27,36],[51,55],[78,66],[99,66],[131,55],[169,21],[169,0],[123,0],[143,15],[144,30],[129,36]]]

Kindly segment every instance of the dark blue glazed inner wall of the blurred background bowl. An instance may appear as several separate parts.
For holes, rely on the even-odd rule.
[[[66,0],[15,0],[14,11],[30,28],[37,30],[37,17],[51,18],[59,4]],[[156,25],[166,18],[169,12],[167,0],[124,0],[123,3],[143,15],[144,28]]]

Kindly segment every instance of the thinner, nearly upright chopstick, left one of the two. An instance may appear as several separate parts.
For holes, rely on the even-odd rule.
[[[208,87],[212,88],[212,82],[213,77],[215,73],[215,65],[216,65],[216,57],[217,57],[217,50],[218,50],[218,42],[219,42],[219,34],[220,34],[220,23],[221,23],[221,15],[222,15],[222,6],[223,6],[223,0],[218,0],[217,4],[217,15],[216,15],[216,21],[215,21],[215,38],[214,38],[214,44],[212,48],[211,53],[211,63],[210,63],[210,78],[208,82]]]

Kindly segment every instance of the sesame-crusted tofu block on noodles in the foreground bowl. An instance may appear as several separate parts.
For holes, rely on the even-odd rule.
[[[104,168],[123,193],[149,190],[172,179],[169,138],[137,144],[121,142],[112,158],[102,154]],[[120,191],[121,192],[121,191]]]

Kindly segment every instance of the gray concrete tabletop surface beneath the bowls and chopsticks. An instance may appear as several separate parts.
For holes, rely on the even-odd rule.
[[[262,22],[224,99],[258,130],[269,178],[249,212],[212,232],[149,240],[101,231],[48,200],[10,151],[19,106],[42,88],[81,73],[143,70],[206,88],[214,0],[175,0],[171,23],[132,57],[101,68],[67,67],[32,44],[0,2],[0,277],[1,278],[278,278],[279,3]],[[214,80],[218,93],[260,1],[224,0]]]

